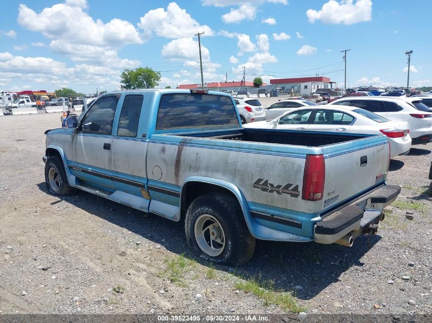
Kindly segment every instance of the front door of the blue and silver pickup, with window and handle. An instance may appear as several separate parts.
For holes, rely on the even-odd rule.
[[[104,95],[72,133],[68,163],[72,173],[95,187],[115,189],[111,171],[112,125],[120,94]]]

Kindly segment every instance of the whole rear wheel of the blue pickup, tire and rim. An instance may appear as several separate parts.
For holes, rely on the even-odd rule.
[[[255,238],[247,229],[238,201],[210,193],[192,202],[185,219],[186,240],[200,258],[237,266],[249,261]]]

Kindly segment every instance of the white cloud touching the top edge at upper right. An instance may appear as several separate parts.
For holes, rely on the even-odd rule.
[[[309,9],[306,15],[310,23],[321,20],[324,23],[353,24],[372,19],[372,0],[329,0],[321,10]]]

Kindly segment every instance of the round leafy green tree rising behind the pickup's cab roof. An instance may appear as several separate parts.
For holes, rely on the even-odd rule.
[[[159,81],[161,81],[161,73],[148,66],[135,69],[126,68],[120,76],[122,89],[125,90],[154,88],[159,85]]]

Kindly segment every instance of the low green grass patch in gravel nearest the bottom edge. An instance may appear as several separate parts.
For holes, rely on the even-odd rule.
[[[257,279],[242,279],[235,288],[245,293],[252,293],[264,301],[264,305],[278,305],[284,311],[299,313],[304,311],[291,292],[278,291],[272,281],[259,282]]]

